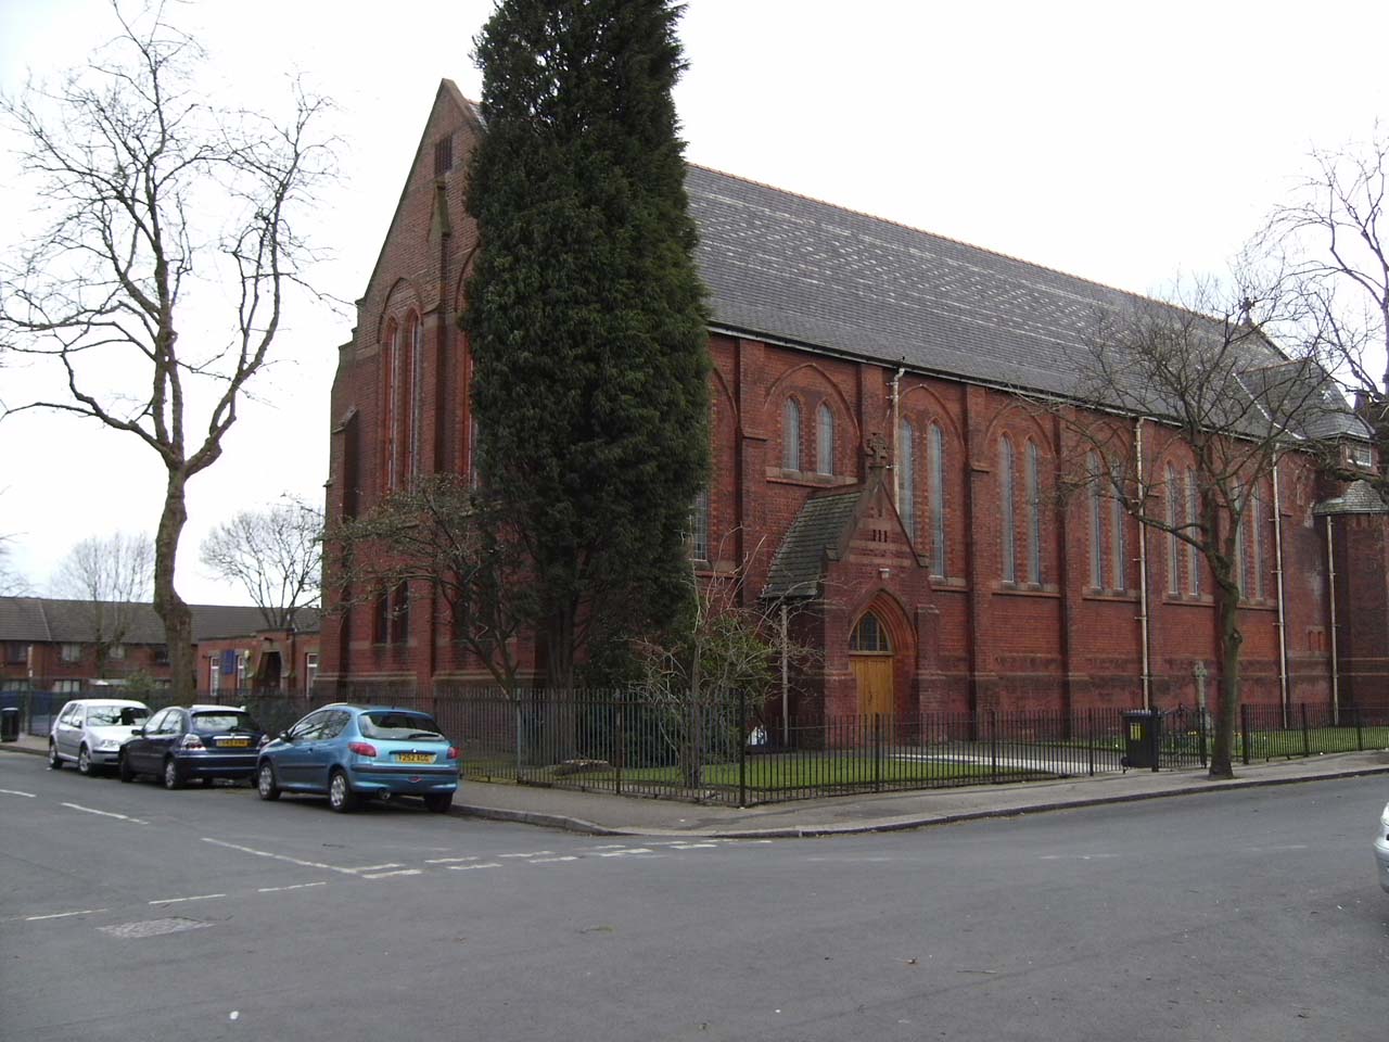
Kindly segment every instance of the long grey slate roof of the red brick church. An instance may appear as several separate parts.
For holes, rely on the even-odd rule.
[[[711,324],[918,372],[1071,395],[1106,311],[1143,297],[690,165]],[[1258,358],[1278,364],[1270,346]],[[1326,433],[1365,436],[1349,414]]]

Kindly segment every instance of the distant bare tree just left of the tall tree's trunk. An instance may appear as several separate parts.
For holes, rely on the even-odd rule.
[[[53,593],[81,602],[96,647],[97,677],[108,675],[136,611],[149,603],[153,578],[154,543],[143,534],[83,539],[58,565]]]

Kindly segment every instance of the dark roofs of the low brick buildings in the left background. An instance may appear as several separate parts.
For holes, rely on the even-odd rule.
[[[129,645],[163,645],[164,624],[153,604],[107,604],[108,610],[132,611],[125,634]],[[240,604],[190,604],[193,639],[247,636],[265,629],[260,609]],[[317,609],[301,609],[296,615],[299,632],[319,627]],[[0,597],[0,640],[25,643],[83,643],[93,636],[92,604],[86,600],[53,597]]]

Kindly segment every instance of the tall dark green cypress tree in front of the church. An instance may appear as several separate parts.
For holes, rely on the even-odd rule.
[[[671,89],[669,0],[503,0],[463,318],[482,474],[533,568],[546,681],[689,606],[708,349]]]

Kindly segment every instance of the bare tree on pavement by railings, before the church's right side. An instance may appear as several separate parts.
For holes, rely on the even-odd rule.
[[[1221,659],[1210,763],[1215,778],[1232,775],[1246,593],[1242,534],[1251,504],[1279,457],[1315,453],[1314,436],[1328,421],[1357,427],[1326,374],[1328,345],[1315,322],[1289,324],[1310,332],[1296,350],[1281,350],[1265,336],[1261,315],[1286,314],[1289,304],[1301,306],[1296,295],[1289,300],[1204,283],[1176,303],[1140,301],[1106,313],[1075,360],[1075,395],[1086,404],[1057,408],[1074,439],[1067,483],[1120,502],[1139,524],[1189,547],[1214,584]],[[1103,411],[1089,407],[1095,404]],[[1128,420],[1117,421],[1115,413]],[[1143,431],[1142,453],[1133,420]],[[1164,457],[1186,465],[1154,465]]]

